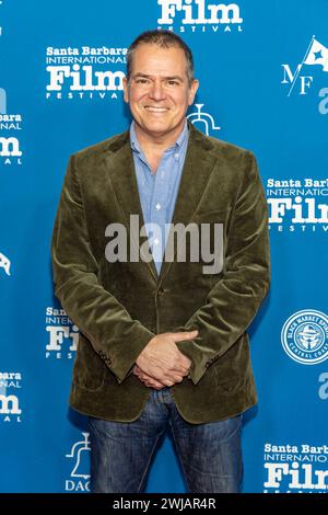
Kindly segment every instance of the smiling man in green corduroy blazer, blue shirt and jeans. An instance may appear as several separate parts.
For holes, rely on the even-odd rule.
[[[92,491],[143,491],[169,424],[189,492],[238,492],[257,401],[246,329],[270,275],[256,160],[187,122],[198,81],[174,33],[132,43],[124,89],[130,130],[71,156],[52,237],[56,295],[80,328],[70,404],[89,415]],[[173,251],[168,224],[186,228]],[[190,227],[210,232],[195,243]],[[214,266],[196,252],[209,234]]]

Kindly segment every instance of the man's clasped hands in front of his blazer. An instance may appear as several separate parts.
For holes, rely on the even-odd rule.
[[[197,334],[198,331],[157,334],[139,354],[132,373],[147,387],[156,390],[181,382],[189,373],[191,360],[175,342],[192,340]]]

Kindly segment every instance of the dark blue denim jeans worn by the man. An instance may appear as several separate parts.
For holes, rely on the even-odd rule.
[[[178,413],[169,387],[150,390],[143,412],[133,422],[89,417],[91,491],[143,492],[159,439],[169,428],[188,492],[237,493],[242,479],[243,415],[191,424]]]

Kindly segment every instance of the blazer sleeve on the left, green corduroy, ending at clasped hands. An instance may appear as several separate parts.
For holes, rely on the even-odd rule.
[[[51,240],[55,295],[120,384],[154,334],[98,283],[81,185],[71,156]]]

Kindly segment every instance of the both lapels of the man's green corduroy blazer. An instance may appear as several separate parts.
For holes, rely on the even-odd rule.
[[[210,152],[212,145],[210,140],[194,125],[188,122],[189,127],[189,141],[181,173],[180,184],[177,193],[176,204],[174,208],[173,218],[171,224],[188,225],[192,219],[194,213],[197,209],[208,179],[213,170],[216,161],[216,156]],[[120,138],[116,139],[108,148],[112,154],[110,169],[112,173],[107,176],[112,182],[112,186],[117,196],[118,204],[120,205],[128,229],[129,237],[132,236],[134,244],[140,248],[138,238],[130,231],[130,215],[139,215],[139,234],[142,226],[144,226],[142,207],[138,191],[138,182],[134,171],[134,162],[132,150],[130,148],[129,131],[125,131]],[[109,163],[107,163],[107,167]],[[168,234],[169,238],[169,234]],[[150,248],[148,245],[149,252]],[[177,249],[175,250],[175,256]],[[174,259],[175,259],[174,256]],[[165,253],[161,266],[160,276],[153,260],[147,262],[147,255],[143,254],[141,261],[148,266],[157,286],[163,282],[164,277],[169,271],[172,261],[165,261]]]

